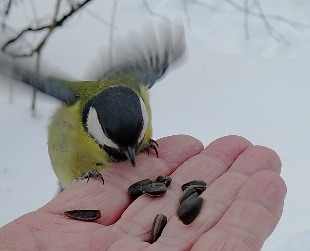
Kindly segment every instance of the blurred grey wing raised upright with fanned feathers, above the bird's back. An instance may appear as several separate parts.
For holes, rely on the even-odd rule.
[[[114,45],[112,57],[110,60],[108,54],[102,57],[105,59],[103,67],[97,67],[93,80],[116,80],[134,74],[151,88],[168,66],[184,54],[185,49],[183,25],[174,29],[168,24],[160,25],[157,32],[153,25],[148,25],[141,35],[131,32],[127,41]]]

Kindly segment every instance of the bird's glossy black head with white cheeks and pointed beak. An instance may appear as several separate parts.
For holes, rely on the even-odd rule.
[[[148,123],[146,106],[131,88],[112,86],[91,99],[83,110],[83,125],[94,140],[117,160],[135,166]]]

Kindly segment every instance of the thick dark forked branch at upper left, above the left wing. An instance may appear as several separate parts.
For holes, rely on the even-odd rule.
[[[28,54],[22,54],[22,55],[16,55],[16,54],[12,54],[12,53],[7,53],[7,54],[9,54],[10,56],[13,56],[13,57],[27,57],[27,56],[32,56],[35,52],[40,53],[42,47],[44,46],[44,44],[45,44],[46,40],[48,39],[48,37],[51,35],[52,31],[56,27],[60,27],[72,14],[77,12],[80,8],[82,8],[85,4],[89,3],[92,0],[86,0],[83,3],[73,3],[73,2],[70,1],[70,3],[71,3],[71,10],[67,14],[65,14],[64,16],[62,16],[60,19],[57,20],[57,15],[58,15],[58,12],[59,12],[60,1],[61,0],[57,0],[56,11],[55,11],[54,18],[53,18],[51,24],[45,25],[45,26],[41,26],[41,27],[38,27],[38,28],[28,27],[28,28],[22,30],[18,35],[16,35],[15,38],[13,38],[13,39],[9,40],[7,43],[5,43],[2,46],[1,50],[6,52],[5,50],[8,47],[8,45],[14,43],[16,40],[18,40],[22,35],[24,35],[27,32],[35,32],[35,31],[40,31],[40,30],[48,29],[48,33],[42,39],[40,44],[35,49],[33,49],[31,52],[29,52]]]

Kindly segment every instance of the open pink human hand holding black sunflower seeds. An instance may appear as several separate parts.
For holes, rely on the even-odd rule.
[[[159,158],[137,155],[136,167],[120,162],[100,179],[80,181],[37,211],[0,229],[0,250],[260,250],[275,229],[286,186],[281,161],[271,149],[239,136],[208,145],[190,136],[162,138]],[[128,187],[142,179],[170,175],[165,195],[134,200]],[[200,214],[189,225],[176,215],[181,185],[203,179],[207,189]],[[63,211],[99,209],[94,222],[68,218]],[[154,217],[167,216],[161,237],[150,244]]]

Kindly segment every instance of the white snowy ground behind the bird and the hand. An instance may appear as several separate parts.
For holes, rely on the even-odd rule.
[[[243,6],[243,0],[236,2]],[[259,2],[265,13],[310,24],[307,0]],[[283,216],[262,250],[310,250],[310,29],[300,31],[270,19],[290,42],[287,46],[268,35],[261,19],[249,16],[246,40],[244,13],[228,0],[204,1],[216,11],[194,3],[185,4],[185,11],[180,0],[148,3],[154,12],[184,20],[188,46],[184,65],[169,71],[150,91],[153,138],[189,134],[206,146],[235,134],[274,149],[288,191]],[[28,24],[33,14],[27,4],[14,6],[7,23]],[[35,1],[43,17],[53,13],[53,4]],[[109,21],[112,4],[94,0],[86,7]],[[253,2],[249,4],[256,11]],[[115,40],[130,29],[140,31],[147,20],[158,18],[147,13],[142,1],[118,1]],[[108,26],[82,10],[51,35],[43,57],[83,79],[98,49],[107,45],[108,34]],[[10,103],[11,83],[0,76],[0,226],[43,206],[58,189],[47,153],[46,127],[59,102],[38,93],[33,117],[31,89],[14,82]]]

